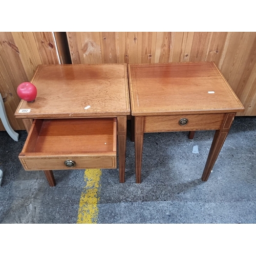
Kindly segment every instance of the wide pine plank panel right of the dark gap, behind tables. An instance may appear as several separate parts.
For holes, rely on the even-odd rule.
[[[256,32],[67,32],[73,63],[165,63],[215,61],[245,106],[238,115],[255,116]],[[105,40],[102,37],[106,38]],[[81,39],[80,39],[81,38]],[[84,38],[93,58],[78,58]],[[98,38],[98,39],[95,39]],[[80,41],[81,40],[81,41]],[[110,57],[111,55],[111,57]]]

